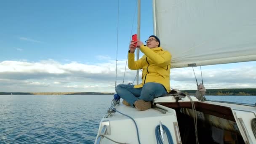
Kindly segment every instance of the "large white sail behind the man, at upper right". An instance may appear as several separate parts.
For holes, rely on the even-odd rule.
[[[256,60],[256,0],[153,0],[172,68]]]

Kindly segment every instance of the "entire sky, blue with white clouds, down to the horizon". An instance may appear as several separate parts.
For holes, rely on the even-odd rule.
[[[141,0],[141,6],[144,41],[153,34],[152,1]],[[137,33],[136,0],[120,0],[118,41],[117,12],[118,0],[1,0],[0,91],[113,92],[116,52],[121,83],[128,44]],[[255,62],[202,69],[206,88],[256,87]],[[200,67],[195,70],[200,78]],[[135,75],[127,70],[125,83]],[[195,89],[193,75],[192,68],[172,69],[171,87]]]

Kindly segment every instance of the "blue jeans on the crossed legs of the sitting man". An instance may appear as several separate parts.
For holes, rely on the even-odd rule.
[[[117,85],[115,91],[131,106],[138,99],[152,101],[154,98],[167,94],[165,87],[160,83],[146,83],[142,88],[133,88],[134,85]]]

